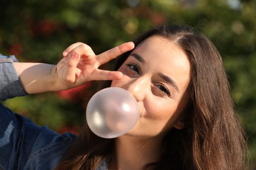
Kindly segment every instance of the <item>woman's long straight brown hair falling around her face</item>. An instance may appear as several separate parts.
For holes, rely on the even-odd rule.
[[[190,101],[182,112],[186,126],[165,135],[160,159],[144,169],[245,169],[247,144],[218,50],[192,27],[174,24],[146,31],[135,39],[135,48],[154,35],[174,42],[188,57]],[[117,59],[116,70],[130,53]],[[57,169],[96,169],[102,161],[111,165],[114,158],[114,139],[97,137],[85,125]]]

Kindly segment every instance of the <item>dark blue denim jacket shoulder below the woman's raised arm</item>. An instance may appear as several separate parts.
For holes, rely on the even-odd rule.
[[[37,126],[1,103],[0,124],[0,167],[5,169],[54,167],[77,138],[72,133],[61,135],[46,126]]]

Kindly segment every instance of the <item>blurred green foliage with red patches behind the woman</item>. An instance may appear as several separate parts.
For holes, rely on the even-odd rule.
[[[232,97],[256,156],[256,1],[253,0],[24,0],[0,2],[0,52],[20,61],[57,63],[80,41],[96,54],[132,41],[165,22],[197,27],[219,48]],[[95,84],[5,101],[12,110],[60,133],[79,133]]]

